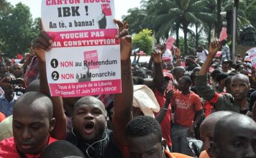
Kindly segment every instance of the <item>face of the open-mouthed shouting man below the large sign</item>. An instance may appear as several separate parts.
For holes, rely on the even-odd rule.
[[[106,113],[99,104],[87,103],[75,109],[73,127],[88,143],[100,139],[105,126]]]

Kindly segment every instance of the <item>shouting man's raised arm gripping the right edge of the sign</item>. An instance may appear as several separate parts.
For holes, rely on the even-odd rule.
[[[132,119],[132,98],[133,83],[130,55],[132,52],[132,37],[129,36],[129,25],[114,20],[119,27],[119,34],[116,39],[121,43],[121,72],[122,72],[122,93],[116,94],[114,98],[114,114],[112,118],[114,141],[120,149],[127,147],[125,140],[125,129],[127,123]]]

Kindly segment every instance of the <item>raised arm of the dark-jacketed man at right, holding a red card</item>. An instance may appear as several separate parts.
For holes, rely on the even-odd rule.
[[[220,46],[221,44],[219,41],[211,42],[209,47],[209,55],[206,57],[206,60],[198,75],[196,75],[196,91],[198,92],[199,96],[207,101],[211,100],[215,96],[214,89],[211,88],[211,86],[207,83],[207,73],[209,67],[211,66],[211,61],[214,59]]]

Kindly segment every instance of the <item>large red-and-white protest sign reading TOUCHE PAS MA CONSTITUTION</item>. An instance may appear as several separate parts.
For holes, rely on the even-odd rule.
[[[114,0],[42,0],[42,25],[54,43],[46,53],[52,96],[121,93]]]

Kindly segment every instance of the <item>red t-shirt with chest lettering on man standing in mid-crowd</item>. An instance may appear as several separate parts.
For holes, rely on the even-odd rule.
[[[196,111],[203,108],[199,96],[193,92],[183,95],[175,91],[171,103],[175,107],[174,124],[181,126],[192,126]]]

